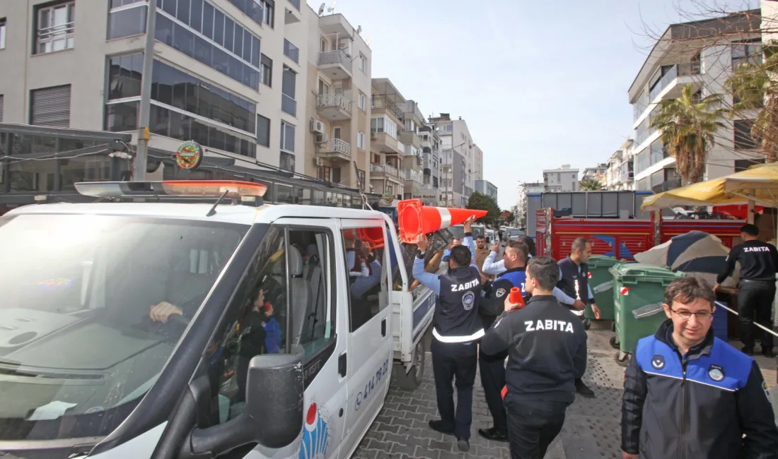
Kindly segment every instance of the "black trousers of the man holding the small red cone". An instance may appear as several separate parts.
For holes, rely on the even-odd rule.
[[[508,392],[508,440],[512,459],[541,459],[565,422],[566,402],[517,397]]]

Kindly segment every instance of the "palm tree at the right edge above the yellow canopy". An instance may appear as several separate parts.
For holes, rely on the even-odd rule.
[[[778,161],[778,45],[772,42],[763,49],[764,61],[738,65],[727,78],[724,88],[734,96],[730,117],[753,116],[752,134],[761,139],[767,162]],[[749,113],[750,112],[750,113]]]

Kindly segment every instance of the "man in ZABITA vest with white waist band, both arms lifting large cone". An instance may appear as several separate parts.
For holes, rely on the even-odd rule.
[[[449,271],[440,276],[424,271],[426,235],[419,235],[419,251],[413,261],[413,277],[438,295],[433,314],[433,375],[440,419],[429,421],[437,432],[457,437],[461,451],[470,450],[473,420],[473,384],[478,369],[477,340],[484,335],[478,304],[481,301],[481,273],[475,266],[475,245],[471,234],[473,218],[464,222],[464,242],[454,245]],[[454,388],[457,378],[457,408]]]

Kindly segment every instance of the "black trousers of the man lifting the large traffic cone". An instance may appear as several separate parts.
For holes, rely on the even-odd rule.
[[[473,422],[473,384],[478,369],[478,345],[476,343],[441,343],[433,338],[430,346],[433,354],[433,374],[438,411],[444,427],[461,438],[470,438]],[[454,411],[456,377],[457,409]]]

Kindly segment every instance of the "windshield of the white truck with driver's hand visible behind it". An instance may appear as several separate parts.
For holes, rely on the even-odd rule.
[[[248,228],[0,217],[0,440],[115,429],[156,380]]]

